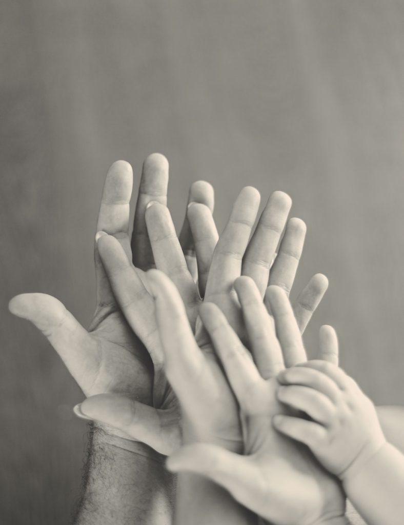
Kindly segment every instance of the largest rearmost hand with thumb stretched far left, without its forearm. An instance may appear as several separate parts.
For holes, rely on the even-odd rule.
[[[160,154],[148,156],[143,165],[131,242],[129,202],[133,184],[132,168],[128,163],[118,161],[111,166],[107,174],[97,231],[103,230],[112,236],[121,247],[128,265],[132,266],[132,251],[133,261],[138,267],[148,269],[154,265],[144,214],[147,204],[151,201],[166,204],[167,183],[167,160]],[[195,183],[190,191],[189,200],[203,203],[212,209],[211,186],[203,182]],[[188,223],[184,225],[183,238],[189,253],[192,241]],[[167,258],[169,259],[169,254]],[[139,329],[135,334],[115,301],[97,246],[95,272],[97,308],[88,331],[60,301],[42,293],[14,297],[9,304],[10,311],[30,320],[46,335],[86,396],[122,393],[129,400],[136,401],[138,413],[142,414],[146,426],[148,424],[151,428],[151,432],[143,436],[144,440],[147,443],[151,436],[148,444],[166,453],[178,442],[178,425],[168,425],[167,433],[164,439],[161,439],[158,432],[152,432],[153,428],[160,424],[156,421],[154,407],[164,407],[167,417],[174,419],[178,418],[178,410],[164,374],[158,373],[158,370],[155,373],[153,366],[153,360],[158,362],[161,355],[160,340],[155,331],[153,300],[139,278],[136,281],[137,292],[130,298],[136,302],[141,315],[139,323],[136,323]],[[140,277],[143,274],[143,270],[136,272]],[[103,429],[113,435],[129,437],[108,424],[104,424]],[[131,442],[125,440],[121,444],[130,445]]]

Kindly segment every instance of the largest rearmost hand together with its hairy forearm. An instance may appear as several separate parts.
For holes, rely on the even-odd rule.
[[[148,269],[154,262],[147,243],[145,208],[152,200],[166,203],[167,160],[163,155],[152,154],[144,162],[130,239],[132,181],[129,164],[118,161],[111,166],[104,184],[97,230],[111,235],[127,261],[132,260],[132,245],[136,264]],[[195,191],[194,186],[191,187],[190,201],[197,199],[212,209],[211,186],[205,182],[196,185]],[[147,408],[153,403],[168,404],[170,399],[164,375],[153,374],[151,354],[158,355],[160,341],[153,337],[146,340],[144,332],[142,341],[133,332],[115,301],[97,246],[95,272],[97,308],[88,331],[56,298],[44,294],[17,296],[10,301],[10,311],[30,320],[46,335],[84,394],[124,393],[139,402],[147,415]],[[139,270],[139,274],[142,275],[143,270]],[[144,312],[150,312],[147,295],[138,300]],[[146,330],[152,331],[153,320],[154,316],[150,322],[144,319]],[[132,521],[153,525],[171,523],[175,479],[166,474],[161,456],[150,447],[127,439],[125,433],[108,424],[93,425],[91,435],[76,522],[86,525]],[[174,436],[173,440],[176,439]]]

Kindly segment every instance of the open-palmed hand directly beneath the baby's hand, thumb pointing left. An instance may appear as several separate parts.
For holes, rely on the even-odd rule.
[[[292,366],[306,359],[290,303],[280,288],[269,287],[265,298],[273,313],[275,335],[273,323],[251,279],[241,277],[235,282],[235,289],[251,353],[215,304],[201,306],[200,316],[240,406],[244,455],[217,443],[197,443],[176,451],[167,466],[175,472],[194,472],[210,478],[242,505],[277,525],[344,522],[344,495],[337,479],[317,463],[306,447],[285,438],[272,426],[273,416],[284,412],[276,396],[277,374],[285,365]],[[157,290],[157,286],[153,286],[153,290]],[[159,300],[157,296],[156,311],[158,316],[161,310],[162,316]],[[184,319],[179,310],[176,316]],[[160,330],[163,321],[159,320]],[[200,413],[197,403],[203,403],[203,398],[191,397],[192,384],[204,385],[207,391],[211,391],[212,386],[206,377],[204,356],[195,349],[189,330],[187,333],[183,329],[176,335],[179,336],[178,357],[174,366],[167,355],[167,376],[178,395],[184,417],[190,417],[193,411]],[[331,329],[322,329],[320,342],[321,357],[337,354],[336,337]],[[166,350],[166,346],[164,348]],[[173,381],[176,374],[182,376],[182,383]],[[208,397],[206,412],[209,408],[215,410],[213,403],[223,403],[222,396],[219,397],[218,392],[214,394],[214,400]],[[204,423],[205,419],[201,418],[200,425]]]

